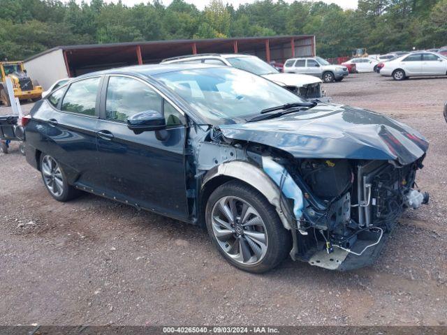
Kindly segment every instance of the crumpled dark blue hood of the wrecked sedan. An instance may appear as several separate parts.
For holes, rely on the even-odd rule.
[[[428,149],[418,131],[382,114],[345,105],[246,124],[219,126],[225,137],[287,151],[296,158],[349,158],[413,163]]]

